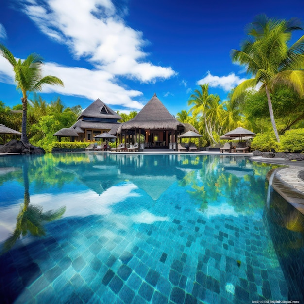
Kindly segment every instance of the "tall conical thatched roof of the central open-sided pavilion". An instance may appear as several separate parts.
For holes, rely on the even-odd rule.
[[[174,118],[162,102],[157,98],[156,94],[141,109],[135,118],[126,121],[118,128],[121,130],[129,129],[173,129],[184,128],[184,125]]]

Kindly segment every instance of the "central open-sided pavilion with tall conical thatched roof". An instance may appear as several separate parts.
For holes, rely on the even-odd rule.
[[[140,149],[176,149],[177,135],[185,132],[186,129],[197,131],[191,125],[185,126],[174,118],[154,94],[135,118],[118,127],[117,135],[120,136],[120,142],[123,140],[125,143],[137,142]],[[111,133],[113,134],[113,130]]]

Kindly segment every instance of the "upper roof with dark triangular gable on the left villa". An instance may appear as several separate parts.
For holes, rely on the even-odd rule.
[[[90,104],[77,118],[80,119],[85,117],[94,118],[110,118],[110,119],[122,119],[120,115],[110,109],[106,104],[104,104],[99,98]]]

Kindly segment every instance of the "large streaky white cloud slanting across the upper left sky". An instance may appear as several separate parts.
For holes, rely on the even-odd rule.
[[[175,75],[172,68],[143,62],[143,34],[127,26],[111,0],[46,0],[24,5],[25,13],[40,30],[67,44],[76,58],[86,58],[95,68],[142,82]]]

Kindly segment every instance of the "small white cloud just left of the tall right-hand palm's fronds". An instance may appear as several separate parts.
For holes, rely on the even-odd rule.
[[[240,78],[234,73],[231,73],[228,76],[214,76],[208,71],[207,76],[198,80],[196,84],[209,84],[210,87],[219,87],[225,92],[228,92],[244,80],[246,80],[246,78]]]

